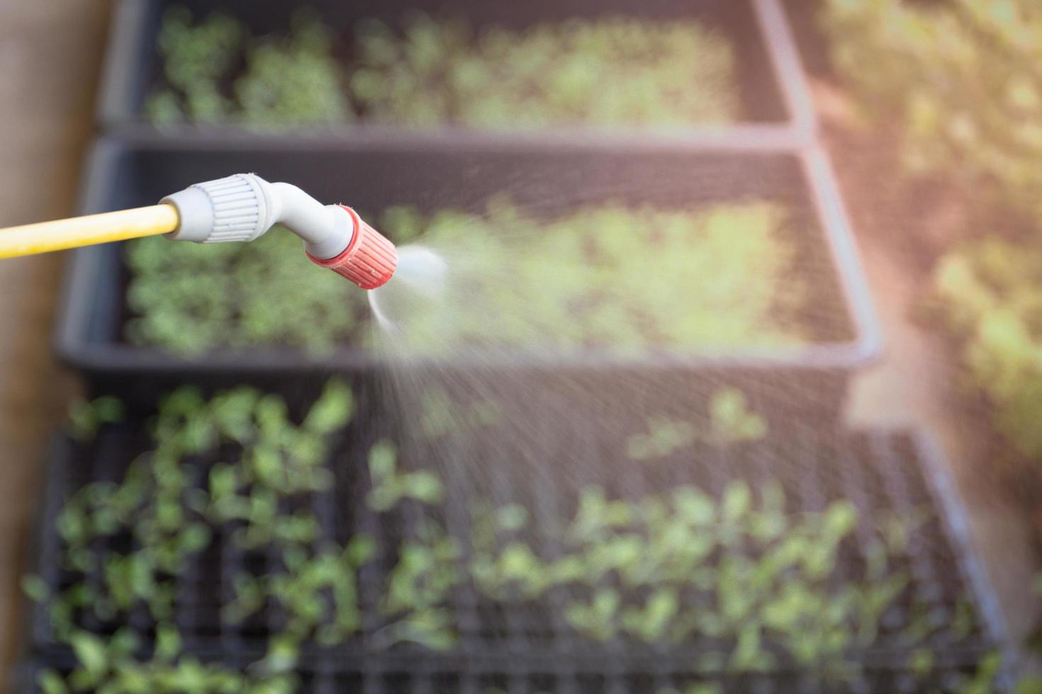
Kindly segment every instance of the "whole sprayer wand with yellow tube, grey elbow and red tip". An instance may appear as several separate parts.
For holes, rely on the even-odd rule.
[[[196,183],[158,205],[0,229],[0,258],[165,234],[175,241],[252,241],[276,224],[304,241],[307,257],[363,289],[394,275],[394,245],[350,207],[323,205],[295,185],[238,174]]]

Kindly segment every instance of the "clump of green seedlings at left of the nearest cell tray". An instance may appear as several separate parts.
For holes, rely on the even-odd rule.
[[[121,481],[81,488],[55,519],[60,568],[79,581],[56,593],[39,577],[25,581],[26,592],[46,605],[54,638],[78,661],[68,678],[45,672],[44,691],[295,691],[300,644],[341,641],[361,625],[354,576],[371,543],[363,536],[345,547],[321,543],[311,512],[282,508],[329,488],[327,439],[352,413],[350,389],[334,381],[300,425],[280,397],[251,388],[210,400],[191,387],[168,395],[149,451]],[[201,462],[215,458],[226,462],[204,470]],[[219,534],[238,551],[264,548],[288,569],[233,576],[225,623],[242,622],[269,600],[284,615],[268,656],[248,673],[181,652],[179,576]],[[130,618],[141,610],[155,629],[145,660],[148,631]],[[103,638],[84,627],[92,619],[115,625],[115,634]]]

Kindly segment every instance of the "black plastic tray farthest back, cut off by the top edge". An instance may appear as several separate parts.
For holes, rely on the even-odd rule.
[[[166,8],[183,5],[197,17],[220,9],[242,20],[254,33],[284,30],[293,12],[300,7],[319,11],[342,45],[349,45],[352,27],[361,19],[377,18],[398,24],[410,10],[466,18],[480,29],[497,25],[524,28],[537,23],[563,21],[569,18],[595,18],[621,15],[649,20],[697,19],[718,28],[728,36],[736,51],[737,81],[747,120],[734,125],[700,126],[664,131],[655,137],[673,139],[754,138],[762,142],[796,142],[810,137],[815,129],[815,115],[810,92],[804,81],[798,52],[777,0],[650,0],[632,3],[628,0],[534,0],[523,3],[497,3],[482,0],[446,0],[419,2],[411,0],[122,0],[113,15],[108,55],[99,100],[99,120],[106,129],[146,130],[154,128],[143,118],[143,104],[150,87],[159,79],[156,35]],[[330,85],[338,88],[339,85]],[[624,85],[617,85],[624,88]],[[612,88],[612,85],[605,85]],[[697,89],[698,84],[692,84]],[[228,126],[180,126],[165,132],[202,129],[218,134]],[[233,127],[231,127],[234,129]],[[382,137],[400,142],[411,136],[422,137],[422,131],[404,127],[368,126],[365,123],[332,127],[345,133]],[[547,128],[538,133],[479,133],[463,128],[438,129],[448,142],[478,139],[510,139],[512,137],[551,137],[572,140],[592,137],[615,142],[619,136],[642,138],[652,136],[640,128],[595,129]]]

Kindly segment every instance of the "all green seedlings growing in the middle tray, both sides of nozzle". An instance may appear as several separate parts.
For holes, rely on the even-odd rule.
[[[692,211],[610,204],[543,221],[500,199],[483,215],[391,208],[380,228],[450,257],[453,291],[396,335],[415,353],[476,345],[642,354],[804,339],[797,313],[805,279],[795,272],[787,214],[772,203]],[[140,239],[125,257],[131,342],[185,355],[367,343],[365,294],[315,267],[284,230],[248,245]]]

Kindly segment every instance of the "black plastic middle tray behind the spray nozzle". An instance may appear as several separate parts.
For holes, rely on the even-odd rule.
[[[259,142],[229,137],[221,144],[205,137],[108,138],[96,146],[90,159],[80,211],[153,204],[193,182],[239,171],[293,182],[320,200],[364,210],[407,204],[426,211],[455,208],[483,213],[490,197],[507,191],[519,207],[547,216],[599,202],[691,208],[747,198],[777,201],[791,211],[791,226],[798,236],[798,272],[809,279],[813,293],[805,315],[805,327],[813,335],[810,343],[653,357],[519,350],[477,360],[445,358],[437,362],[442,369],[477,374],[481,366],[499,372],[542,371],[548,379],[570,374],[618,382],[632,378],[669,382],[689,375],[695,381],[693,390],[737,385],[753,399],[762,393],[777,401],[783,409],[805,401],[804,405],[823,413],[835,413],[850,374],[879,349],[871,300],[843,206],[827,159],[817,149],[635,147],[606,151],[585,145],[445,148],[437,143],[411,143],[387,147],[323,137]],[[351,345],[318,356],[257,348],[183,358],[127,343],[122,337],[127,271],[121,251],[119,243],[77,250],[65,290],[57,350],[66,362],[95,382],[103,380],[111,386],[120,380],[167,379],[173,383],[199,376],[293,382],[308,375],[388,365],[387,360]],[[676,301],[683,305],[684,298]],[[429,365],[417,361],[405,366]],[[652,387],[644,390],[653,394]],[[653,404],[652,400],[648,407]]]

